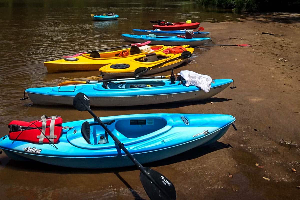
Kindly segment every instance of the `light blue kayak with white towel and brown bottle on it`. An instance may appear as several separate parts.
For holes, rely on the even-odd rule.
[[[184,84],[171,84],[170,79],[142,79],[107,82],[91,81],[89,84],[28,88],[25,91],[34,104],[73,105],[73,98],[84,92],[91,106],[137,106],[178,101],[197,101],[210,98],[229,86],[232,79],[215,79],[208,93]],[[146,77],[145,77],[146,78]],[[134,79],[134,78],[132,78]],[[96,82],[96,83],[95,83]]]

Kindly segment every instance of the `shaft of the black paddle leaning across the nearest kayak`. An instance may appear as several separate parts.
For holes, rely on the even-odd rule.
[[[84,103],[83,103],[84,104]],[[85,105],[85,104],[84,104]],[[163,188],[161,188],[156,181],[146,172],[145,168],[142,166],[141,163],[139,163],[137,161],[137,159],[135,159],[135,157],[133,157],[133,155],[125,148],[124,144],[122,142],[120,142],[120,140],[105,126],[105,124],[100,120],[99,117],[97,117],[95,115],[95,113],[87,106],[85,105],[87,111],[96,119],[96,121],[101,125],[101,127],[104,128],[104,130],[110,135],[110,137],[112,137],[113,141],[115,141],[117,143],[117,145],[119,146],[120,149],[122,149],[124,151],[124,153],[130,158],[130,160],[135,164],[135,166],[137,166],[137,168],[144,174],[147,176],[147,178],[149,178],[150,181],[152,181],[156,187],[158,187],[162,192],[164,192],[167,196],[169,196]]]

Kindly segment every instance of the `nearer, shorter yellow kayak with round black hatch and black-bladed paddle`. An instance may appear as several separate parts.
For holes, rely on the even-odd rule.
[[[188,47],[183,46],[184,48]],[[190,55],[194,52],[194,48],[186,48]],[[131,57],[119,62],[114,60],[113,64],[107,64],[99,69],[103,79],[112,79],[118,77],[134,77],[134,73],[138,68],[145,68],[146,73],[144,75],[150,75],[159,73],[171,68],[177,67],[178,65],[187,61],[188,58],[180,58],[179,54],[165,54],[163,52],[149,53],[146,55],[139,55],[138,57]],[[124,62],[125,61],[125,62]]]

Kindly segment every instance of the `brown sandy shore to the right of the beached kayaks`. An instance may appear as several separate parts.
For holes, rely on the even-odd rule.
[[[180,176],[174,183],[178,199],[300,199],[299,18],[252,13],[241,22],[202,23],[215,44],[253,46],[212,46],[177,69],[234,79],[237,88],[212,98],[214,104],[180,110],[234,115],[238,128],[230,128],[219,143],[199,148],[205,153],[190,151],[201,157],[169,166]]]

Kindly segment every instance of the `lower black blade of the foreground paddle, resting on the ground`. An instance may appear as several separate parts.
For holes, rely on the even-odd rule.
[[[175,200],[176,190],[173,183],[161,173],[145,167],[146,172],[153,178],[158,186],[153,183],[146,175],[140,173],[141,183],[151,200]]]

